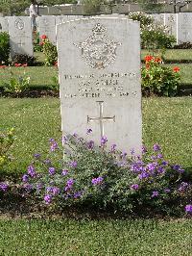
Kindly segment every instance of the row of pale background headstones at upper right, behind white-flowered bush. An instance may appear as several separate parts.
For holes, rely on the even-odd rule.
[[[160,13],[152,16],[177,38],[177,44],[192,42],[192,13]]]

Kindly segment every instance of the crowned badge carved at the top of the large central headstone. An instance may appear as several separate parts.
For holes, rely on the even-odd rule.
[[[93,34],[84,42],[75,44],[82,50],[85,64],[97,69],[104,69],[116,59],[116,48],[120,42],[114,42],[106,35],[107,29],[98,23],[92,30]]]

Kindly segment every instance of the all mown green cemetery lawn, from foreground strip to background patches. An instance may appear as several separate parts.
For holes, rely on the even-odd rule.
[[[190,87],[191,50],[167,50],[166,59],[174,60],[171,65],[180,66],[181,82]],[[12,67],[18,73],[23,69],[31,76],[34,88],[51,86],[52,77],[58,72],[55,66]],[[7,75],[7,68],[0,69],[0,83],[7,80]],[[60,140],[60,99],[1,97],[0,106],[0,129],[13,126],[16,136],[12,145],[13,161],[1,174],[18,182],[34,153],[47,152],[50,138]],[[183,166],[190,177],[191,110],[191,96],[142,99],[144,144],[151,148],[155,142],[159,143],[166,159]],[[0,255],[188,256],[192,251],[191,218],[133,219],[102,215],[98,218],[89,213],[79,217],[69,213],[63,218],[19,211],[15,205],[4,206],[0,217]]]

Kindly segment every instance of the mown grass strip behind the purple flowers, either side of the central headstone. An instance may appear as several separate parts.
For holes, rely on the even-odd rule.
[[[60,99],[0,98],[0,106],[0,129],[14,126],[17,138],[7,170],[15,175],[25,171],[34,153],[48,151],[50,138],[60,140]],[[169,161],[187,168],[192,167],[191,110],[191,97],[143,99],[144,143],[159,142]]]

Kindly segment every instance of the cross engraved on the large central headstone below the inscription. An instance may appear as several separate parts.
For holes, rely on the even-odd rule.
[[[87,123],[91,121],[98,121],[100,124],[100,130],[101,130],[101,137],[104,136],[104,122],[105,121],[113,121],[115,122],[115,115],[112,117],[106,117],[104,116],[104,101],[96,101],[99,103],[99,116],[98,117],[89,117],[87,115]]]

